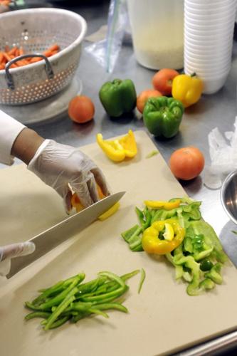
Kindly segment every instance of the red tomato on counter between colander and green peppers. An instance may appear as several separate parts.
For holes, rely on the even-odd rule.
[[[95,106],[93,102],[85,95],[77,95],[70,100],[68,105],[68,115],[71,120],[83,124],[93,119],[95,115]]]

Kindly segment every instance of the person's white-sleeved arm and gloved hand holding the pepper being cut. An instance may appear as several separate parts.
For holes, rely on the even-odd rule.
[[[78,194],[83,206],[99,200],[100,186],[109,194],[101,169],[78,148],[44,140],[34,130],[0,111],[0,162],[12,164],[18,157],[44,183],[63,198],[67,211],[71,209],[72,193]]]

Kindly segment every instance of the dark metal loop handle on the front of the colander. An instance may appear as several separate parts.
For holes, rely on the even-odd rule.
[[[13,58],[11,61],[9,61],[8,63],[6,63],[6,66],[5,66],[5,75],[6,75],[6,84],[7,86],[9,87],[9,89],[11,90],[14,90],[15,89],[15,85],[14,85],[14,80],[12,78],[12,75],[11,73],[9,72],[9,68],[11,67],[11,65],[17,61],[20,61],[21,59],[23,58],[28,58],[28,57],[41,57],[43,58],[45,61],[46,61],[46,74],[47,74],[47,77],[48,79],[52,79],[53,76],[54,76],[54,73],[53,73],[53,68],[51,66],[51,63],[50,61],[48,61],[48,58],[46,56],[44,56],[42,53],[29,53],[29,54],[23,54],[22,56],[18,56],[16,58]]]

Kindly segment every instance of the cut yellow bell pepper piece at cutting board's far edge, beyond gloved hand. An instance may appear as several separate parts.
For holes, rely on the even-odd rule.
[[[125,157],[135,157],[137,155],[137,143],[132,130],[127,135],[115,140],[103,140],[102,134],[96,136],[98,145],[105,152],[105,155],[115,162],[121,162]]]

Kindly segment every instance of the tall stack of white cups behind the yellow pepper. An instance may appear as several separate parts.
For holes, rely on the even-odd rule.
[[[184,72],[196,73],[204,93],[221,89],[231,69],[236,0],[184,0]]]

